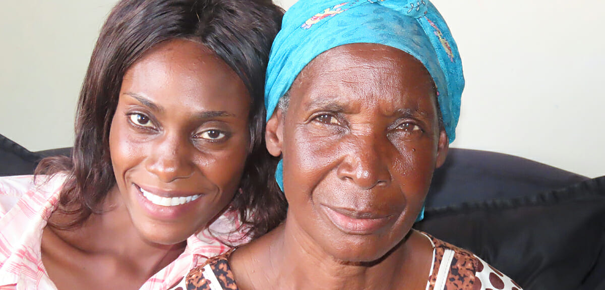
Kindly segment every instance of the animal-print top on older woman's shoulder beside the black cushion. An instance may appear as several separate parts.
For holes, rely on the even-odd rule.
[[[422,233],[424,234],[424,233]],[[433,266],[428,290],[505,289],[522,290],[511,278],[472,252],[425,234],[433,243]]]

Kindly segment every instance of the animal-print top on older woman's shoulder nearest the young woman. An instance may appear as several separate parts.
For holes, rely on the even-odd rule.
[[[186,289],[239,289],[235,285],[235,278],[229,265],[229,256],[234,251],[228,251],[224,254],[212,257],[200,266],[189,271],[185,278]],[[216,288],[214,285],[220,285]]]

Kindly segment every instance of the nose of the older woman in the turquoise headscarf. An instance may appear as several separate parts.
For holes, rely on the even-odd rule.
[[[345,157],[338,167],[338,176],[350,180],[362,189],[387,186],[391,174],[385,160],[380,138],[374,135],[352,137],[342,148]]]

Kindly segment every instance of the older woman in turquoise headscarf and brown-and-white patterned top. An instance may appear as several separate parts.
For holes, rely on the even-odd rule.
[[[267,148],[283,224],[188,277],[188,289],[520,289],[411,229],[454,140],[462,65],[425,1],[301,0],[267,70]]]

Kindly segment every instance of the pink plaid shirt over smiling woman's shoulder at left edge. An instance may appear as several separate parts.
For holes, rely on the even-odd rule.
[[[40,241],[64,180],[59,175],[0,177],[0,289],[13,289],[10,285],[50,289],[44,285],[52,282],[39,266]]]

